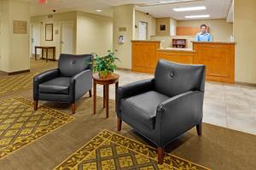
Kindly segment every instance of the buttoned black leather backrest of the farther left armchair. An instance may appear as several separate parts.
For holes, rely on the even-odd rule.
[[[73,77],[79,72],[92,69],[92,54],[61,54],[58,68],[62,77]]]

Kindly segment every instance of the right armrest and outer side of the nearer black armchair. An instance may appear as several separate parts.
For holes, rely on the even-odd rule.
[[[204,92],[189,91],[158,105],[155,127],[160,128],[163,144],[201,122],[203,98]]]

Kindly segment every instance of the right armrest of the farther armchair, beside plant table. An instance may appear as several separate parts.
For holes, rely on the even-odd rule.
[[[70,95],[72,103],[92,88],[92,71],[86,70],[73,76],[70,80]]]

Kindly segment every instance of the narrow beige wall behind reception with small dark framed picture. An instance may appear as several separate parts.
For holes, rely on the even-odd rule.
[[[170,36],[171,28],[170,18],[157,18],[156,19],[156,36]],[[166,25],[166,31],[160,31],[160,25]]]

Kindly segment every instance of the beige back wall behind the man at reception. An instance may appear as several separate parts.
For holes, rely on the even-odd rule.
[[[201,26],[206,24],[210,27],[213,41],[230,42],[230,36],[233,35],[232,23],[227,23],[224,19],[216,20],[178,20],[177,26]]]

